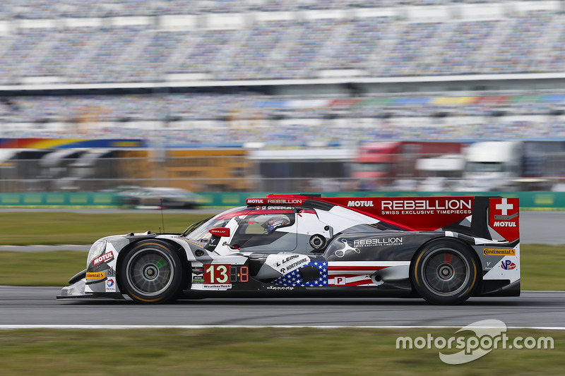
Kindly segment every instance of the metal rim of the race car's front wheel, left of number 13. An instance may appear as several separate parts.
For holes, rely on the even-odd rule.
[[[129,259],[126,270],[131,289],[144,296],[157,296],[172,284],[174,269],[171,257],[158,249],[138,250]]]

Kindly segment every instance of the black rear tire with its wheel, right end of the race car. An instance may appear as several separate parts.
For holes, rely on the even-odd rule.
[[[410,280],[428,303],[455,305],[466,301],[480,284],[472,250],[453,239],[432,241],[410,264]]]

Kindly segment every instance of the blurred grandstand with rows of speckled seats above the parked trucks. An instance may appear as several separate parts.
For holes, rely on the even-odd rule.
[[[562,1],[4,0],[0,138],[565,138]],[[257,144],[258,142],[258,144]]]

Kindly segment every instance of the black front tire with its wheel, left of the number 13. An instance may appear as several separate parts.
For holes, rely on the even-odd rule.
[[[174,301],[182,291],[182,261],[164,241],[137,243],[119,260],[118,271],[120,290],[139,303]]]

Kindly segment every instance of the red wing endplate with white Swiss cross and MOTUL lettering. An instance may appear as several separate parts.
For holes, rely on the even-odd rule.
[[[491,198],[489,226],[507,241],[520,238],[520,202],[518,198]]]

